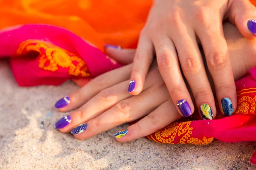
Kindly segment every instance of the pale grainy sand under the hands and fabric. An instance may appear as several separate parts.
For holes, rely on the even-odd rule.
[[[0,77],[0,170],[256,170],[249,162],[253,142],[117,142],[113,133],[128,125],[75,139],[54,128],[67,113],[53,105],[76,85],[19,87],[6,61],[0,62]]]

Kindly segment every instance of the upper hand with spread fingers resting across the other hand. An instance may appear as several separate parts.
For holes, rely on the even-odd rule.
[[[249,0],[155,0],[140,34],[128,91],[137,95],[143,90],[155,53],[160,73],[181,115],[190,116],[195,111],[183,75],[197,108],[207,106],[215,114],[198,38],[219,106],[225,116],[230,116],[236,110],[236,87],[223,33],[225,19],[236,24],[244,37],[256,37],[256,20],[251,20],[256,19],[256,10]],[[181,101],[185,104],[180,105]]]

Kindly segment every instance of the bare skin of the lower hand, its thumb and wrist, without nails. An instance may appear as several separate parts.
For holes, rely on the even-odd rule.
[[[237,80],[256,65],[256,40],[242,37],[230,23],[224,25],[224,33],[231,56],[233,78]],[[107,53],[116,61],[127,64],[132,61],[135,50],[108,48]],[[70,104],[60,111],[76,111],[70,113],[72,122],[60,131],[69,133],[76,126],[87,122],[87,130],[74,136],[88,139],[123,123],[142,118],[127,128],[127,135],[117,139],[119,142],[129,142],[180,119],[182,116],[172,102],[156,61],[148,71],[143,92],[136,96],[127,93],[133,66],[128,64],[102,74],[69,94]]]

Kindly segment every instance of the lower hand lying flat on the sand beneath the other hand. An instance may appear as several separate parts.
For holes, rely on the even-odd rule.
[[[55,127],[61,132],[71,132],[78,139],[88,139],[143,117],[139,122],[114,135],[116,138],[125,136],[118,140],[128,142],[154,133],[180,119],[156,62],[149,69],[145,90],[137,96],[127,93],[132,66],[130,64],[102,74],[58,101],[55,105],[57,107],[68,103],[61,111],[78,109],[60,119]]]

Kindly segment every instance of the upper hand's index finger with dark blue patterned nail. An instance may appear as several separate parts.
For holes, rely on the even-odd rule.
[[[232,65],[227,42],[224,38],[222,22],[219,19],[211,20],[211,22],[218,24],[212,25],[208,21],[203,22],[204,25],[201,25],[201,27],[207,28],[207,30],[196,29],[196,33],[202,42],[219,106],[225,116],[230,116],[233,110],[236,109],[236,86]]]

